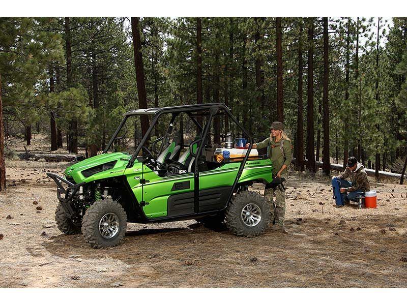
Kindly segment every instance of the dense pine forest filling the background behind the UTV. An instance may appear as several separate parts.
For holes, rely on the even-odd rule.
[[[407,17],[1,17],[0,157],[33,133],[90,157],[128,110],[220,102],[256,140],[283,121],[296,169],[404,173],[406,76]]]

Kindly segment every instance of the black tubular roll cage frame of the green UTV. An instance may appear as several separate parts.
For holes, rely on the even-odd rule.
[[[207,124],[205,127],[201,127],[199,125],[199,123],[197,122],[197,120],[193,117],[193,115],[191,114],[191,112],[193,111],[200,111],[200,110],[208,110],[209,111],[209,118],[207,121]],[[162,115],[162,114],[166,114],[166,113],[181,113],[181,112],[185,112],[189,115],[189,117],[191,117],[191,119],[194,121],[194,123],[197,125],[198,128],[200,128],[200,130],[202,130],[202,140],[200,141],[198,150],[196,152],[197,156],[200,156],[201,151],[202,151],[202,146],[205,146],[205,142],[206,142],[206,137],[208,135],[208,131],[210,129],[211,123],[212,123],[212,119],[215,116],[215,114],[219,111],[219,110],[224,110],[225,114],[229,116],[229,118],[234,121],[234,123],[243,131],[244,135],[247,136],[247,138],[249,139],[249,147],[247,148],[246,151],[246,155],[245,158],[243,159],[243,161],[240,164],[239,167],[239,171],[238,174],[235,178],[234,184],[232,186],[232,189],[230,191],[230,194],[227,198],[226,202],[229,202],[233,191],[236,188],[236,185],[238,183],[238,180],[240,178],[240,176],[242,175],[244,166],[247,162],[247,159],[249,157],[250,154],[250,150],[253,146],[253,139],[251,137],[251,135],[246,131],[246,129],[239,123],[239,121],[236,119],[236,117],[230,112],[230,109],[223,103],[208,103],[208,104],[198,104],[198,105],[185,105],[185,106],[173,106],[173,107],[164,107],[164,108],[150,108],[150,109],[139,109],[139,110],[132,110],[129,111],[125,114],[122,122],[120,123],[119,127],[117,128],[117,130],[114,132],[113,136],[111,137],[109,143],[107,144],[105,150],[103,151],[103,154],[106,154],[108,149],[110,148],[110,146],[112,145],[113,141],[116,139],[118,133],[120,132],[120,130],[122,129],[123,125],[126,123],[127,118],[129,118],[130,116],[133,115],[154,115],[154,118],[150,124],[150,127],[148,128],[146,134],[144,134],[143,138],[141,139],[140,143],[138,144],[137,148],[135,149],[133,155],[131,156],[129,163],[127,164],[127,168],[130,168],[133,166],[134,161],[136,160],[139,151],[141,150],[141,148],[143,147],[144,143],[146,143],[148,136],[151,134],[151,131],[153,130],[154,126],[156,125],[158,118]],[[197,166],[197,162],[198,162],[198,158],[195,158],[195,171],[194,171],[194,181],[195,181],[195,194],[194,194],[194,198],[195,198],[195,205],[194,205],[194,212],[198,213],[198,196],[199,196],[199,171],[198,171],[198,166]]]

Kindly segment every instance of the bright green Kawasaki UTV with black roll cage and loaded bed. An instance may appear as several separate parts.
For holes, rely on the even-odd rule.
[[[137,126],[149,117],[151,125],[137,144]],[[209,227],[224,222],[238,236],[263,233],[270,206],[248,187],[276,187],[281,180],[273,180],[270,159],[258,156],[251,144],[234,148],[231,133],[226,148],[213,143],[212,123],[253,142],[221,103],[127,112],[103,154],[68,167],[65,178],[47,173],[57,185],[58,228],[82,232],[94,248],[117,246],[128,222],[195,219]],[[118,152],[128,147],[130,152]]]

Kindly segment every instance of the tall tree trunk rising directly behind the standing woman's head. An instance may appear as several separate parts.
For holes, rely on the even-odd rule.
[[[277,51],[277,120],[284,123],[283,103],[283,61],[281,48],[281,17],[276,17],[276,51]]]

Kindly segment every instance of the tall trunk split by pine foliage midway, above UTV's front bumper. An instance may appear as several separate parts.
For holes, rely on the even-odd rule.
[[[69,17],[65,17],[65,40],[67,51],[67,84],[68,89],[72,87],[72,51],[71,51],[71,27]],[[69,145],[68,151],[70,153],[78,153],[78,121],[73,119],[69,122],[68,131]]]

